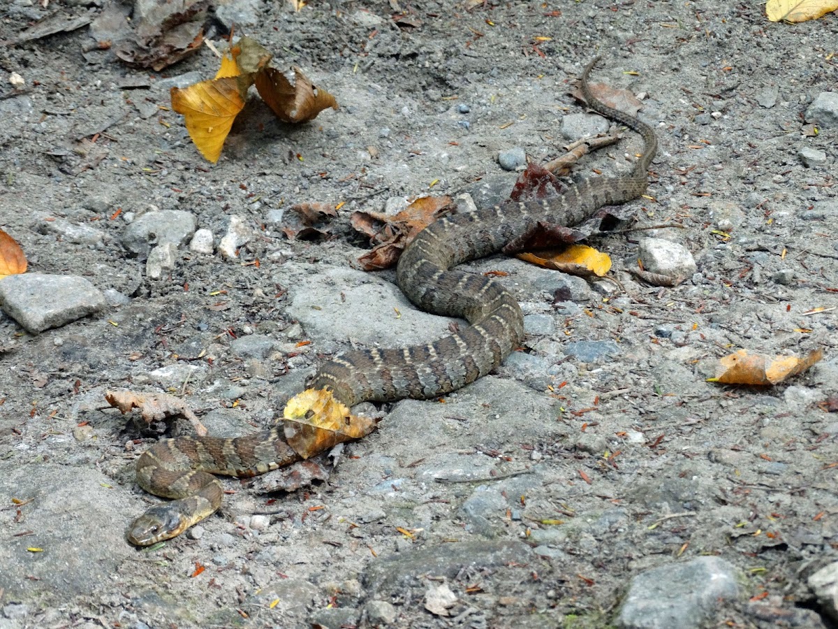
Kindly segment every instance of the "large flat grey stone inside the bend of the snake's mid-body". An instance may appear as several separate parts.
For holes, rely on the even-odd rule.
[[[437,340],[451,333],[453,321],[416,309],[395,284],[351,268],[303,278],[287,314],[317,340],[345,343],[351,338],[368,347]]]

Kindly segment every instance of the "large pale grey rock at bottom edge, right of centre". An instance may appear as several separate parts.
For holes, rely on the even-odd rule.
[[[647,570],[632,579],[617,625],[626,629],[703,626],[722,600],[737,598],[737,579],[737,570],[717,557]]]

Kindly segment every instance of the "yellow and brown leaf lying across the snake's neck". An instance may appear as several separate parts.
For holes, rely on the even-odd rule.
[[[375,429],[375,419],[350,414],[326,389],[297,393],[288,400],[283,417],[288,445],[303,459]]]

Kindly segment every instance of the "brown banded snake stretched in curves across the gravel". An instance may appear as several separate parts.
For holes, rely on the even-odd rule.
[[[603,205],[644,193],[657,138],[644,122],[592,96],[587,79],[597,60],[582,72],[582,95],[593,111],[643,138],[643,153],[632,172],[582,179],[546,200],[507,201],[427,226],[399,259],[399,287],[418,307],[462,317],[470,325],[427,345],[346,352],[323,364],[308,387],[330,389],[347,407],[365,401],[434,398],[485,376],[520,344],[524,316],[515,297],[497,280],[454,267],[499,252],[541,221],[576,225]],[[173,538],[215,512],[223,489],[213,474],[256,476],[299,458],[276,428],[235,439],[163,439],[137,460],[137,482],[146,491],[174,500],[132,522],[128,541],[145,546]]]

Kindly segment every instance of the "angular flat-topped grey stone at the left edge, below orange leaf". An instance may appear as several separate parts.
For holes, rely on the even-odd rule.
[[[0,281],[0,307],[31,334],[99,312],[106,305],[105,295],[76,275],[23,273]]]

